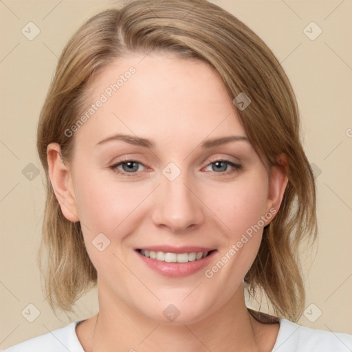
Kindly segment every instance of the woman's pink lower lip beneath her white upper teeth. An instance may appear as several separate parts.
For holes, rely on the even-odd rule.
[[[217,251],[214,250],[214,252],[211,252],[205,258],[198,259],[197,261],[189,261],[188,263],[167,263],[166,261],[157,261],[156,259],[148,258],[140,254],[140,252],[137,252],[137,254],[148,267],[158,274],[169,278],[182,278],[195,274],[195,272],[198,272],[201,268],[208,265],[216,252]]]

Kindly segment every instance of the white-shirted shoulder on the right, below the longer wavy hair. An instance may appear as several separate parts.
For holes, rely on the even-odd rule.
[[[352,335],[302,327],[280,319],[280,329],[272,352],[348,352]]]

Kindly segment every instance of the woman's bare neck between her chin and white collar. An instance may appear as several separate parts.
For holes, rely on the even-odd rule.
[[[89,352],[263,351],[263,341],[259,338],[263,335],[263,331],[259,333],[261,323],[256,322],[245,307],[243,287],[206,318],[177,324],[147,318],[125,305],[103,285],[98,285],[99,313],[95,317]]]

